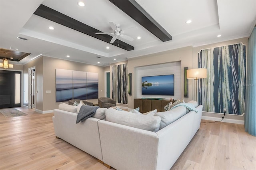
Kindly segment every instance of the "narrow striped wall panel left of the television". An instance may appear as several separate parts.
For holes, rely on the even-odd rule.
[[[112,67],[112,97],[116,103],[128,103],[127,64]]]

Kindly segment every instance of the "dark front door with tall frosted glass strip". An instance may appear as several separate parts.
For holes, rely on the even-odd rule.
[[[21,107],[21,71],[0,70],[0,109]]]

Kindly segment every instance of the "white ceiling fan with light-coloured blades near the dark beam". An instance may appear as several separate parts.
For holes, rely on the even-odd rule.
[[[118,36],[121,36],[122,38],[128,40],[128,41],[133,41],[134,39],[122,34],[123,31],[119,26],[116,26],[113,22],[109,22],[110,27],[112,28],[113,32],[96,32],[95,34],[108,34],[108,35],[113,35],[114,37],[111,39],[110,43],[114,43],[115,40],[118,38]]]

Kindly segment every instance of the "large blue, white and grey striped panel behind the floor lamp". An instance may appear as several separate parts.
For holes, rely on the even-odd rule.
[[[206,112],[242,115],[245,109],[246,45],[242,43],[201,50],[198,68],[207,68],[199,79],[198,102]]]

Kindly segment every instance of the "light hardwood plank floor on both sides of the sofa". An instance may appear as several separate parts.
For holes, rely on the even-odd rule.
[[[0,170],[108,170],[96,158],[55,138],[53,113],[17,109],[28,116],[0,114]],[[171,170],[256,169],[256,137],[244,132],[243,125],[204,122]]]

